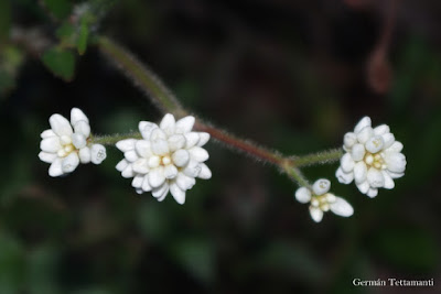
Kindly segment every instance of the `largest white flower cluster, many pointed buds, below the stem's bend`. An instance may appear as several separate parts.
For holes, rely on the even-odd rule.
[[[209,134],[192,132],[193,124],[194,117],[175,121],[170,113],[160,126],[141,121],[142,140],[127,139],[116,144],[125,153],[116,168],[123,177],[133,177],[137,193],[151,192],[162,202],[170,190],[179,204],[184,204],[185,192],[196,183],[195,177],[212,177],[203,163],[208,153],[202,148]]]

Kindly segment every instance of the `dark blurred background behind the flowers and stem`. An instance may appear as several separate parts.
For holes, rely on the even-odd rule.
[[[35,2],[14,2],[13,22],[53,34]],[[363,116],[389,124],[408,162],[395,189],[370,199],[338,184],[337,163],[303,170],[355,209],[319,225],[287,176],[213,142],[213,178],[184,206],[136,194],[111,146],[101,165],[51,178],[37,154],[52,113],[79,107],[101,134],[162,115],[93,46],[71,83],[29,55],[0,100],[0,293],[439,293],[441,2],[390,3],[127,0],[97,29],[186,108],[286,154],[340,146]]]

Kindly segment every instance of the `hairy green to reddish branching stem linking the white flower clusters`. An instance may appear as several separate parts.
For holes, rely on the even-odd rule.
[[[189,112],[183,109],[174,95],[164,86],[164,84],[135,56],[121,46],[117,45],[108,37],[98,37],[98,48],[114,63],[121,72],[126,74],[137,86],[148,94],[148,97],[157,104],[164,112],[171,112],[178,118],[187,116]],[[322,153],[310,154],[305,156],[283,156],[277,151],[257,145],[256,143],[240,139],[226,131],[213,127],[201,119],[196,119],[195,130],[207,132],[217,142],[225,143],[232,150],[244,152],[258,161],[270,163],[278,166],[290,178],[300,186],[310,186],[308,179],[302,175],[299,166],[312,164],[325,164],[337,161],[343,151],[341,149],[330,150]],[[115,144],[119,140],[128,138],[140,138],[139,133],[127,135],[117,134],[115,137],[97,137],[95,143]]]

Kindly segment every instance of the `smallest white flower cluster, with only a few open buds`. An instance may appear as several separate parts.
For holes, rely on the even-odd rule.
[[[295,192],[295,199],[299,203],[310,203],[311,218],[315,222],[320,222],[323,218],[323,213],[329,210],[342,217],[349,217],[354,214],[351,204],[329,193],[330,188],[331,182],[325,178],[320,178],[315,181],[312,188],[300,187]]]

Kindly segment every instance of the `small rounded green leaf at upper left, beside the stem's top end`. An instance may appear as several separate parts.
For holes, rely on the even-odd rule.
[[[75,57],[72,52],[51,48],[43,54],[42,61],[54,75],[65,80],[71,80],[74,77]]]

